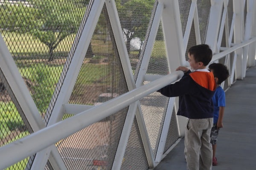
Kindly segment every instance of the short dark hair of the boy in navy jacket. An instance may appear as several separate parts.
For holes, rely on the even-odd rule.
[[[189,48],[189,54],[194,55],[195,62],[202,62],[207,66],[212,60],[212,50],[207,44],[199,44]]]

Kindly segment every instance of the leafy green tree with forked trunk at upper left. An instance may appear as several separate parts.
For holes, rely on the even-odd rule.
[[[49,48],[48,61],[53,50],[70,34],[76,33],[89,0],[27,0],[26,3],[8,1],[0,12],[1,29],[9,32],[29,32]]]

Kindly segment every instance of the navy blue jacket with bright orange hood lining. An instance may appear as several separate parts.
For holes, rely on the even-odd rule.
[[[157,90],[167,97],[179,96],[177,115],[187,118],[213,118],[212,96],[216,84],[212,72],[186,72],[180,81]]]

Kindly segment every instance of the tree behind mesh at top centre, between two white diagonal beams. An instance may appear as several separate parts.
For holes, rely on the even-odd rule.
[[[145,30],[148,27],[154,2],[154,0],[116,0],[128,53],[134,37],[145,38]]]

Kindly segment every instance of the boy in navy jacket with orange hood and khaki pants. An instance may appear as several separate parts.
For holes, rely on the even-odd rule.
[[[207,44],[192,46],[188,52],[189,65],[176,70],[184,72],[180,81],[157,90],[167,97],[179,96],[177,115],[187,119],[185,130],[185,158],[188,170],[212,169],[212,144],[210,132],[213,125],[212,96],[216,84],[206,66],[212,60],[212,50]]]

